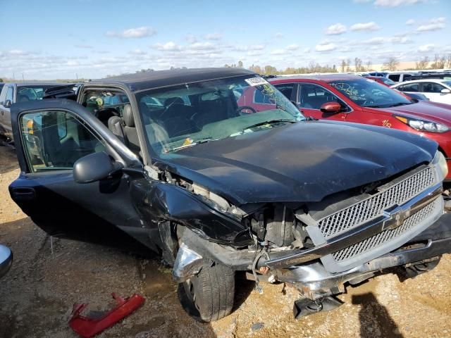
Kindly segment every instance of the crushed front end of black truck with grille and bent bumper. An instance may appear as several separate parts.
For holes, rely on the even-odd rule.
[[[242,218],[254,239],[246,248],[199,241],[185,231],[174,276],[180,281],[196,273],[196,262],[205,258],[252,270],[257,287],[259,281],[285,282],[299,290],[297,318],[339,306],[334,295],[345,292],[346,283],[394,267],[414,277],[451,252],[443,163],[437,153],[427,165],[320,202],[255,206]]]

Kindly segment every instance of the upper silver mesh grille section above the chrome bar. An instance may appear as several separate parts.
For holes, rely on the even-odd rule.
[[[425,168],[383,192],[322,218],[318,222],[319,230],[328,239],[382,215],[384,210],[392,206],[404,204],[434,183],[433,168]]]

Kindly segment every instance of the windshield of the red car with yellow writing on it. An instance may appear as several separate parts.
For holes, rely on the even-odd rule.
[[[337,80],[329,84],[362,107],[388,108],[413,103],[395,90],[370,79]]]

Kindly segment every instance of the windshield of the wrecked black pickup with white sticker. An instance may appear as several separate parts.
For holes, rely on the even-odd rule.
[[[304,120],[278,89],[249,75],[152,89],[137,101],[156,154]]]

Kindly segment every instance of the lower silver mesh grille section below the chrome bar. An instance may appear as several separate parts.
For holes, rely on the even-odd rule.
[[[332,253],[333,258],[335,259],[335,261],[339,262],[346,261],[349,258],[352,258],[361,253],[369,251],[375,248],[376,246],[380,246],[381,244],[388,242],[391,239],[394,239],[395,237],[400,236],[401,234],[407,232],[407,230],[409,230],[410,228],[414,227],[422,220],[427,218],[429,215],[431,215],[435,211],[435,208],[439,206],[440,204],[439,199],[441,199],[441,197],[435,199],[430,204],[426,205],[424,208],[411,215],[409,218],[406,218],[402,223],[402,225],[400,225],[400,227],[397,227],[396,229],[393,230],[385,230],[383,232],[379,232],[378,234],[375,234],[372,237],[364,239],[362,242],[348,246],[345,249],[341,249],[340,251]]]

